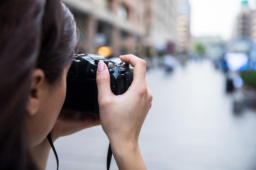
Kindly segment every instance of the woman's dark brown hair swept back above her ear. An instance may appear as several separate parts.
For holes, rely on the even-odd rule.
[[[41,68],[49,83],[57,82],[75,44],[73,16],[60,0],[0,1],[1,169],[36,169],[25,136],[32,71]]]

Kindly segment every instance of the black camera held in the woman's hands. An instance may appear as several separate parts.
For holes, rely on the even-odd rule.
[[[67,93],[63,109],[99,114],[97,67],[100,60],[108,66],[110,87],[115,95],[125,93],[133,80],[133,67],[115,63],[93,54],[75,54],[67,73]]]

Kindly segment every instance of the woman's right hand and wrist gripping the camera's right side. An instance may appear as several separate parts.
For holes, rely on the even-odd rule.
[[[98,64],[101,126],[110,140],[119,169],[142,170],[146,166],[139,151],[138,138],[153,97],[146,82],[146,62],[135,55],[122,55],[120,59],[134,66],[132,84],[122,95],[112,93],[108,68],[102,61]]]

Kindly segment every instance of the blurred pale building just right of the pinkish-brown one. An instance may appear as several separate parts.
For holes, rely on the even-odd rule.
[[[175,51],[177,0],[149,0],[144,44],[155,51]]]

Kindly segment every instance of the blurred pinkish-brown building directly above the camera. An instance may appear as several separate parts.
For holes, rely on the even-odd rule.
[[[74,13],[81,51],[114,56],[141,51],[147,1],[63,0]]]

